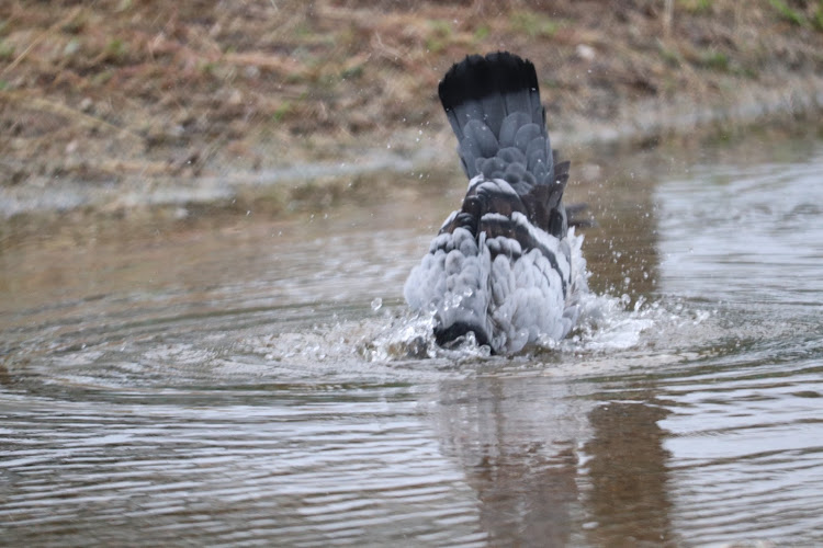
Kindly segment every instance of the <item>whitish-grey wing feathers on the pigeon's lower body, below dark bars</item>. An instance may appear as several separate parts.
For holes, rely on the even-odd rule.
[[[495,216],[509,219],[486,215]],[[510,219],[554,254],[556,269],[539,249],[522,253],[517,240],[487,239],[484,233],[475,240],[458,228],[432,240],[404,288],[413,310],[435,315],[446,326],[463,321],[482,327],[498,353],[563,339],[577,320],[579,294],[587,288],[583,237],[570,229],[559,240],[522,214],[514,213]]]

